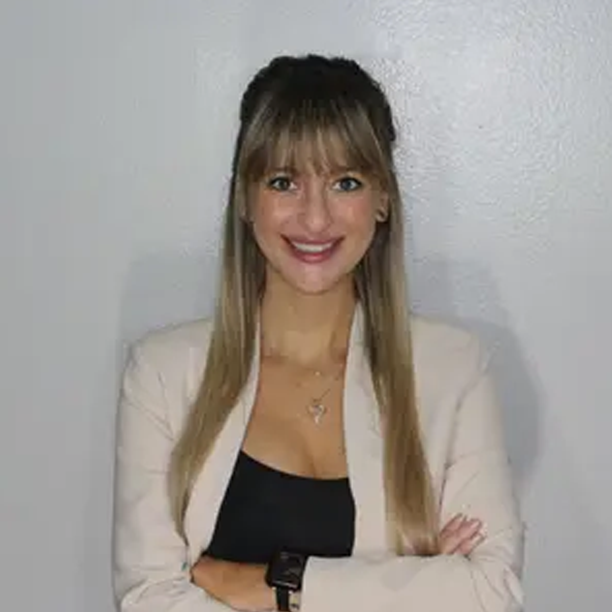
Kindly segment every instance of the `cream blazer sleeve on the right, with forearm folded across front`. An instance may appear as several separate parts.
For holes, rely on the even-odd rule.
[[[472,370],[474,371],[474,370]],[[501,415],[486,368],[457,402],[442,517],[480,518],[485,541],[467,558],[310,558],[302,612],[517,612],[523,609],[520,520],[504,449]]]

